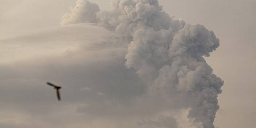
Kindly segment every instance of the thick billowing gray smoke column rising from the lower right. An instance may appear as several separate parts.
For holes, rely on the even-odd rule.
[[[187,117],[203,128],[214,128],[223,81],[203,58],[220,45],[213,31],[170,17],[158,0],[112,0],[110,4],[110,11],[99,11],[96,4],[78,0],[62,24],[98,22],[109,31],[128,35],[125,66],[148,82],[148,92],[171,95],[170,100],[174,94],[189,97],[190,101],[181,98],[188,101],[182,106],[190,108]]]

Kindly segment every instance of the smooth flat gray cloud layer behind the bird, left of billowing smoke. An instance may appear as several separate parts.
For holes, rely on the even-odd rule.
[[[20,60],[24,55],[15,54],[18,59],[0,65],[1,113],[7,113],[0,115],[1,126],[101,128],[117,127],[127,120],[136,127],[136,120],[122,116],[135,110],[127,104],[135,102],[146,86],[134,70],[124,66],[128,44],[124,38],[91,24],[79,24],[1,40],[3,44],[20,40],[28,50],[37,49],[27,59]],[[56,47],[54,53],[45,51]],[[61,102],[56,102],[46,81],[63,87]]]

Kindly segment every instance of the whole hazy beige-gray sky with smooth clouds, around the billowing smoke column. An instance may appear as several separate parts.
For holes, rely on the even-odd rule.
[[[108,0],[90,1],[101,10],[110,9]],[[126,68],[129,34],[79,22],[91,18],[86,16],[61,25],[75,2],[0,0],[0,127],[196,128],[187,119],[189,103],[169,103],[163,97],[152,103],[147,98],[148,83],[138,73],[144,65],[132,60],[131,69]],[[175,19],[203,24],[220,39],[217,50],[204,57],[224,81],[216,128],[255,128],[256,1],[159,0],[159,4]],[[46,81],[63,86],[61,102]]]

